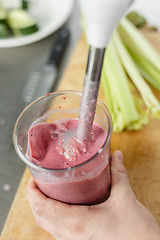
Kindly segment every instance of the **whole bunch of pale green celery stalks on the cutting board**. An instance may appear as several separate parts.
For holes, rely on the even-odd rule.
[[[160,55],[124,18],[107,47],[102,70],[113,131],[138,130],[150,115],[160,117],[160,103],[145,80],[160,90]]]

